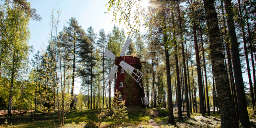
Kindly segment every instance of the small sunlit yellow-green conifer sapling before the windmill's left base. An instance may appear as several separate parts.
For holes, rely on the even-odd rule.
[[[109,119],[117,120],[117,125],[119,126],[119,119],[129,119],[127,110],[125,110],[125,100],[119,100],[119,97],[121,96],[120,91],[114,93],[114,99],[113,99],[113,115],[109,116]]]

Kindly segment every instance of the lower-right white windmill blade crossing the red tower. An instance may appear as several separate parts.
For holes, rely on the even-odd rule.
[[[144,75],[142,72],[140,72],[138,69],[132,67],[131,65],[127,64],[124,61],[121,61],[121,63],[119,64],[122,68],[124,68],[124,70],[130,74],[133,79],[136,80],[136,82],[139,82],[140,79],[142,78],[142,76]]]

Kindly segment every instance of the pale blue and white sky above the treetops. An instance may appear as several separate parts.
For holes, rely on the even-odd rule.
[[[33,55],[41,48],[45,48],[48,45],[49,39],[49,22],[52,10],[57,14],[58,7],[62,10],[61,14],[61,25],[58,31],[63,29],[64,23],[71,17],[76,18],[78,24],[86,31],[90,26],[94,29],[95,33],[98,33],[100,29],[104,28],[105,32],[108,33],[112,30],[115,23],[111,23],[113,14],[106,14],[108,0],[28,0],[31,3],[32,8],[36,8],[37,13],[42,17],[39,21],[30,21],[30,40],[29,45],[34,46],[34,53],[31,54],[30,60]],[[0,1],[0,4],[3,4]],[[58,5],[57,5],[58,3]],[[149,6],[148,0],[143,0],[143,8]],[[67,24],[65,24],[67,25]],[[125,33],[127,32],[124,24],[118,25],[119,28],[124,28]],[[141,32],[145,32],[144,28],[141,27]],[[127,36],[127,35],[126,35]],[[252,75],[253,76],[253,75]],[[243,80],[248,82],[248,75],[243,73]],[[79,81],[77,79],[76,81]],[[78,94],[80,89],[80,83],[75,82],[74,93]]]

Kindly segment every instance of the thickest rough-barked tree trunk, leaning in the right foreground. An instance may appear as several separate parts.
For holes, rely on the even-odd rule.
[[[214,0],[203,0],[210,39],[210,48],[213,64],[214,78],[220,105],[221,126],[223,128],[238,128],[235,109],[232,105],[232,96],[229,89],[228,78],[224,65],[224,55],[222,53],[221,39],[218,27],[217,13]],[[239,56],[238,56],[239,58]],[[225,72],[225,73],[223,73]],[[247,110],[247,109],[246,109]]]

